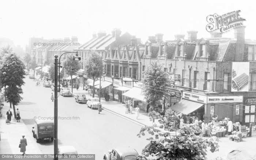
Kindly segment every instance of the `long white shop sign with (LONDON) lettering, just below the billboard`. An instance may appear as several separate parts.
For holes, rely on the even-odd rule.
[[[208,103],[235,103],[243,102],[243,96],[208,96]]]

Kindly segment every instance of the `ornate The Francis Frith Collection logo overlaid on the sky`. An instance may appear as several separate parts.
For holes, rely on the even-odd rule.
[[[206,26],[208,32],[218,32],[219,34],[226,33],[234,28],[242,27],[244,18],[241,18],[241,11],[232,11],[223,15],[213,14],[208,15],[206,20],[209,24]]]

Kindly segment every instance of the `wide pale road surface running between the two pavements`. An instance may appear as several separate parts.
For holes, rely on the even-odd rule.
[[[50,88],[35,86],[35,81],[26,77],[23,100],[17,106],[26,126],[31,130],[34,119],[54,117],[54,102],[50,100]],[[105,152],[115,147],[132,147],[140,154],[148,143],[146,137],[138,138],[141,126],[105,110],[98,114],[86,104],[78,104],[74,97],[58,98],[59,145],[73,145],[79,154],[95,154],[101,159]],[[74,118],[73,118],[74,117]],[[62,119],[70,118],[70,119]],[[31,132],[31,136],[32,132]],[[53,142],[38,144],[42,153],[53,154]]]

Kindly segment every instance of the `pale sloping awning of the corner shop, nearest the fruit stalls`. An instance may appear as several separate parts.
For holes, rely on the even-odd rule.
[[[174,111],[188,115],[188,114],[192,113],[193,111],[199,109],[203,105],[204,104],[202,104],[202,103],[197,103],[197,102],[193,102],[191,100],[182,99],[180,102],[178,102],[177,104],[174,104],[170,108]]]

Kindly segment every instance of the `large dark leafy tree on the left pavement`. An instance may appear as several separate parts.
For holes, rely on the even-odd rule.
[[[0,68],[0,88],[5,88],[4,96],[10,102],[10,108],[18,105],[22,99],[19,95],[22,94],[21,86],[25,84],[25,65],[15,53],[5,54]]]

